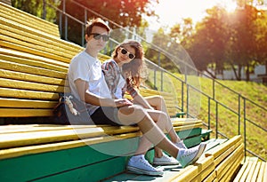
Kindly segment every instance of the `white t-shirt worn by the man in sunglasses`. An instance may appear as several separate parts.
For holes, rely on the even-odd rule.
[[[81,79],[89,83],[88,91],[103,98],[112,98],[108,85],[105,82],[104,75],[101,71],[100,60],[93,58],[86,51],[78,53],[73,59],[71,59],[68,79],[70,91],[77,99],[80,99],[76,84],[74,83],[77,79]],[[99,107],[91,104],[86,105],[89,115],[92,115]]]

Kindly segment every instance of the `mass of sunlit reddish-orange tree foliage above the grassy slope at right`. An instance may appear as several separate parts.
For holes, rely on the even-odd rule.
[[[170,36],[189,52],[199,71],[215,78],[225,67],[231,67],[240,80],[241,68],[246,67],[249,81],[255,65],[267,67],[267,15],[248,1],[238,3],[239,8],[232,13],[219,6],[206,10],[207,16],[195,28],[190,20],[184,20],[174,25]]]

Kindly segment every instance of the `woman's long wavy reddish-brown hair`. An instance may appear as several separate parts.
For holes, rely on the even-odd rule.
[[[125,78],[128,84],[134,87],[139,87],[141,84],[142,76],[141,70],[143,66],[143,50],[142,44],[134,40],[125,40],[123,43],[118,44],[115,50],[112,52],[112,58],[117,58],[117,51],[120,47],[131,46],[134,48],[135,57],[128,63],[125,63],[122,67],[123,75],[127,74],[129,77]]]

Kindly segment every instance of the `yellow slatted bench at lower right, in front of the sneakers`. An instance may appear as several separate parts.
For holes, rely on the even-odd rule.
[[[162,178],[154,178],[155,182],[184,182],[184,181],[232,181],[236,173],[240,169],[240,165],[244,159],[244,145],[241,136],[235,136],[228,140],[218,139],[216,145],[214,141],[207,142],[205,154],[203,154],[198,162],[184,169],[179,166],[166,166],[165,174]],[[260,172],[263,176],[263,171]],[[176,172],[179,171],[179,172]],[[137,175],[118,175],[109,178],[109,181],[125,181],[136,178],[145,179]],[[261,177],[260,177],[261,178]],[[239,179],[238,179],[239,181]]]

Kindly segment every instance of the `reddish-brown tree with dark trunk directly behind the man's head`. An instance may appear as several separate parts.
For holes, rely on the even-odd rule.
[[[83,11],[82,7],[77,5],[82,4],[87,11]],[[109,21],[109,26],[113,29],[119,28],[137,28],[143,24],[142,16],[155,16],[153,4],[158,3],[158,0],[66,0],[66,12],[75,19],[85,22],[96,17],[101,17]],[[62,9],[63,4],[61,4]],[[86,13],[86,14],[85,14]],[[86,15],[86,16],[85,16]],[[114,24],[112,22],[113,21]],[[77,44],[81,44],[82,28],[84,25],[78,25],[72,20],[69,20],[68,39]],[[124,32],[122,33],[124,34]]]

